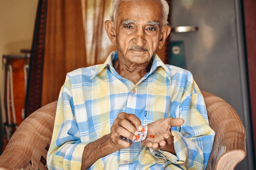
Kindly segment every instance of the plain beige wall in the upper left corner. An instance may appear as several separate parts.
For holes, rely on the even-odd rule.
[[[0,0],[0,101],[3,110],[3,54],[30,49],[37,12],[37,0]]]

